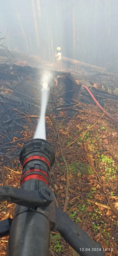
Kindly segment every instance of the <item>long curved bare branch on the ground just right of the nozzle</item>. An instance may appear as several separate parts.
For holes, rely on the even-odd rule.
[[[66,167],[66,191],[65,191],[65,202],[64,202],[64,207],[63,207],[63,211],[66,212],[67,211],[67,207],[68,207],[68,202],[69,202],[69,168],[68,168],[68,163],[65,159],[64,153],[63,153],[63,149],[62,149],[62,144],[61,144],[61,139],[60,139],[60,135],[58,133],[58,130],[56,128],[56,125],[54,123],[54,120],[52,119],[52,117],[48,114],[48,116],[50,117],[50,120],[54,126],[54,133],[55,136],[58,138],[57,143],[58,146],[60,148],[60,152],[61,152],[61,156],[63,159],[63,163]]]

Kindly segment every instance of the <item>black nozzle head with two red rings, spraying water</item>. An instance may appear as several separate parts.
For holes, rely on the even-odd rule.
[[[55,152],[49,142],[43,139],[32,139],[24,144],[20,154],[23,166],[21,185],[31,179],[43,181],[49,185],[50,167],[54,164]]]

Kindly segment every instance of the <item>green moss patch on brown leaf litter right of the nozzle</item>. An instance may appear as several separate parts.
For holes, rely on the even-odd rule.
[[[80,174],[94,174],[91,166],[85,162],[74,162],[73,164],[68,165],[71,174],[77,176],[78,172]]]

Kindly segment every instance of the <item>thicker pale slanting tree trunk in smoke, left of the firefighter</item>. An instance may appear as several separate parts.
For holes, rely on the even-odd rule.
[[[37,48],[39,50],[40,40],[39,40],[39,31],[38,31],[38,24],[37,24],[37,18],[36,18],[35,2],[34,2],[34,0],[31,0],[31,2],[32,2],[32,11],[33,11],[33,18],[34,18],[36,42],[37,42]]]

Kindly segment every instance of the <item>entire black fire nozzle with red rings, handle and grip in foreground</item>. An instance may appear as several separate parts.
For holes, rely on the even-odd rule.
[[[50,231],[58,231],[81,256],[103,256],[100,242],[92,240],[67,213],[55,206],[50,167],[55,153],[49,142],[32,139],[20,154],[21,188],[0,186],[0,201],[16,203],[13,219],[0,222],[0,237],[9,235],[7,256],[49,255]]]

